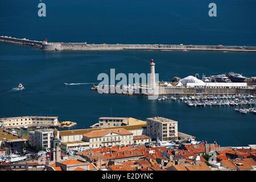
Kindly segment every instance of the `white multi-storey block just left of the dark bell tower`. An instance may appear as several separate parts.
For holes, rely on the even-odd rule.
[[[35,148],[50,148],[51,138],[53,138],[53,129],[42,129],[29,132],[28,143]],[[59,131],[57,132],[59,138]]]

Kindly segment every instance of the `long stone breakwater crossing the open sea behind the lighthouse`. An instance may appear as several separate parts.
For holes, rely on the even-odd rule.
[[[29,39],[17,39],[8,36],[0,36],[0,42],[24,44],[36,46],[45,50],[160,50],[160,51],[246,51],[256,52],[253,46],[200,46],[200,45],[166,45],[166,44],[87,44],[87,43],[48,43]]]

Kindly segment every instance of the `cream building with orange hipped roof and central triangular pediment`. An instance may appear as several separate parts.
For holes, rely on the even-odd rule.
[[[90,148],[133,144],[133,133],[125,129],[94,130],[83,135]]]

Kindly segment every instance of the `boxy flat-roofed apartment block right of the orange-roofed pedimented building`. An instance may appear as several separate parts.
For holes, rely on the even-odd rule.
[[[147,118],[147,135],[152,139],[171,141],[178,138],[178,122],[163,117]]]

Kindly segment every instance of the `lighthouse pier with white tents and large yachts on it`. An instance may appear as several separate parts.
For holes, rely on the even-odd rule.
[[[110,72],[112,70],[110,69]],[[172,81],[159,81],[159,76],[156,77],[155,62],[153,59],[150,61],[150,73],[148,73],[148,80],[146,74],[129,74],[129,83],[125,84],[112,84],[115,79],[110,76],[110,81],[105,84],[105,80],[98,85],[94,85],[92,90],[97,90],[98,93],[118,93],[127,95],[174,95],[175,97],[183,96],[224,96],[224,95],[253,95],[256,94],[256,77],[245,77],[241,74],[229,72],[228,75],[216,75],[202,78],[197,73],[195,76],[187,76],[185,78],[174,77]],[[159,75],[159,74],[158,74]],[[108,76],[108,75],[106,75]],[[144,76],[144,77],[143,77]],[[122,75],[123,80],[127,81],[127,76]],[[132,78],[132,79],[130,79]],[[130,82],[133,81],[133,82]],[[144,81],[144,82],[134,82]],[[155,97],[157,99],[157,97]]]

